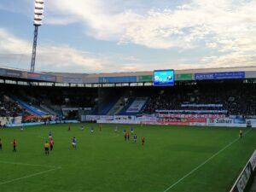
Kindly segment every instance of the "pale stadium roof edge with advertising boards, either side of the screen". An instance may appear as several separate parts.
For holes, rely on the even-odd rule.
[[[223,67],[223,68],[201,68],[201,69],[184,69],[175,70],[175,74],[191,74],[195,79],[196,73],[222,73],[222,72],[243,72],[245,78],[256,79],[256,67]],[[55,72],[36,72],[31,73],[26,69],[18,69],[12,67],[0,67],[0,76],[21,78],[21,79],[34,79],[61,83],[122,83],[122,82],[134,82],[133,80],[127,80],[125,78],[132,77],[139,79],[143,76],[151,76],[148,81],[152,81],[152,75],[154,71],[144,72],[127,72],[127,73],[55,73]],[[119,78],[118,82],[110,82],[108,78]],[[124,80],[122,80],[124,78]],[[107,79],[107,80],[106,80]],[[136,82],[139,82],[137,80]]]

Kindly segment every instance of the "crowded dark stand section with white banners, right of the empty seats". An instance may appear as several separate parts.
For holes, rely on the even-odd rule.
[[[256,90],[248,84],[197,84],[160,90],[150,96],[143,113],[156,110],[227,111],[227,115],[255,115]]]

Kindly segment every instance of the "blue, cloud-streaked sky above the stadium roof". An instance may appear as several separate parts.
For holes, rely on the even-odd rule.
[[[30,69],[33,0],[0,1],[0,66]],[[256,66],[256,0],[45,0],[36,71]]]

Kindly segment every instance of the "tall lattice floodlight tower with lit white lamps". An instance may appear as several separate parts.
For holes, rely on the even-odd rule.
[[[34,39],[33,39],[33,49],[32,49],[32,60],[30,71],[35,71],[35,62],[36,62],[36,54],[37,54],[37,42],[38,42],[38,26],[42,26],[44,13],[44,0],[35,0],[35,9],[34,9]]]

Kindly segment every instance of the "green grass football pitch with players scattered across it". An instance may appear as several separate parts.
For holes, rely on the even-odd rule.
[[[227,192],[256,148],[256,129],[133,125],[42,125],[0,130],[1,192]],[[44,155],[48,132],[54,150]],[[246,133],[246,134],[245,134]],[[71,147],[77,137],[77,149]],[[146,137],[145,145],[141,137]],[[17,152],[11,142],[18,141]]]

